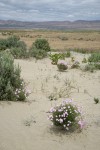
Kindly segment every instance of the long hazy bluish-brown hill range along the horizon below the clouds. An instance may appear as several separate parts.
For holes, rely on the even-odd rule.
[[[0,29],[100,30],[100,20],[25,22],[0,20]]]

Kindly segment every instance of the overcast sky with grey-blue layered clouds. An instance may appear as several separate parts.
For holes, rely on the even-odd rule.
[[[100,0],[0,0],[0,20],[100,20]]]

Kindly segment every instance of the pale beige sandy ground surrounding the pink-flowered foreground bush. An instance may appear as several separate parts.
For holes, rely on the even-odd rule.
[[[84,56],[74,55],[79,61]],[[0,150],[99,150],[100,103],[93,99],[100,98],[100,71],[59,72],[48,58],[15,60],[15,64],[21,66],[21,76],[32,93],[27,102],[0,102]],[[52,94],[56,101],[50,101]],[[51,106],[67,97],[83,107],[82,132],[59,131],[47,120]]]

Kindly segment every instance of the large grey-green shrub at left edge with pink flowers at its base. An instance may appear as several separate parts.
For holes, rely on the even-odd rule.
[[[24,101],[28,96],[25,82],[20,77],[21,69],[14,66],[10,53],[0,53],[0,100]]]

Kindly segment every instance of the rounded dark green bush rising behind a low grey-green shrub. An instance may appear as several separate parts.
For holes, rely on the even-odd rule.
[[[33,46],[36,49],[42,49],[42,50],[45,50],[46,52],[50,51],[50,46],[49,46],[49,43],[46,39],[37,39],[33,43]]]

